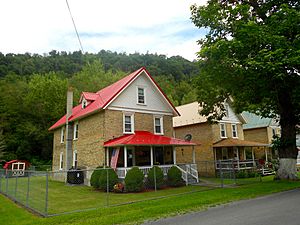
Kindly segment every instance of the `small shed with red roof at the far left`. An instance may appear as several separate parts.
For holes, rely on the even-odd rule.
[[[3,166],[3,169],[6,171],[8,176],[24,176],[25,170],[30,166],[30,163],[26,160],[14,159],[9,162],[6,162]]]

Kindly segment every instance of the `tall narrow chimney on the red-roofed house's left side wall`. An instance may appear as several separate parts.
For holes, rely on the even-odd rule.
[[[66,167],[65,169],[68,170],[72,167],[73,161],[73,151],[72,151],[72,143],[73,143],[73,126],[69,123],[69,118],[72,115],[73,109],[73,89],[68,88],[67,92],[67,116],[66,116]]]

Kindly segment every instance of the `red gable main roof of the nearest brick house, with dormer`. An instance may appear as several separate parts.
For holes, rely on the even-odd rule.
[[[88,101],[92,101],[87,105],[84,109],[81,105],[77,105],[72,109],[72,115],[69,118],[69,121],[74,121],[79,118],[90,115],[91,113],[97,112],[98,110],[105,109],[109,103],[114,100],[136,77],[138,77],[142,72],[145,72],[147,76],[151,79],[151,81],[158,88],[159,92],[164,96],[164,98],[168,101],[172,109],[176,114],[179,115],[178,111],[174,107],[174,105],[170,102],[168,97],[163,93],[157,83],[153,80],[147,70],[142,67],[135,72],[129,74],[128,76],[122,78],[121,80],[101,89],[97,93],[91,92],[83,92],[82,96],[84,96]],[[60,118],[54,125],[52,125],[49,130],[54,130],[66,123],[66,115]]]

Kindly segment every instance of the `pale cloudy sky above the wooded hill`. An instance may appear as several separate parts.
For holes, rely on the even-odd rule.
[[[83,51],[157,53],[196,59],[206,33],[190,6],[206,0],[68,0]],[[0,0],[0,52],[78,51],[66,0]]]

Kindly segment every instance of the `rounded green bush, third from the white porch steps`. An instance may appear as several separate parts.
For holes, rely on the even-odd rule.
[[[138,167],[132,167],[125,177],[125,189],[128,192],[139,192],[144,187],[144,174]]]

